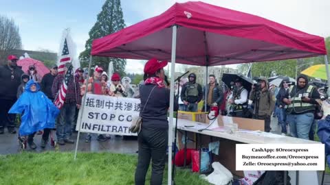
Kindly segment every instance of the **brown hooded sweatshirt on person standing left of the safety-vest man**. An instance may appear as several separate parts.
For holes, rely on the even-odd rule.
[[[264,81],[266,86],[260,92],[258,115],[259,116],[270,116],[270,115],[272,115],[272,112],[274,110],[275,97],[274,97],[272,91],[270,91],[268,88],[267,78],[261,77],[259,80]],[[254,100],[255,94],[256,94],[256,91],[254,89],[252,89],[250,92],[249,99]],[[254,106],[253,113],[256,114],[256,106]]]

